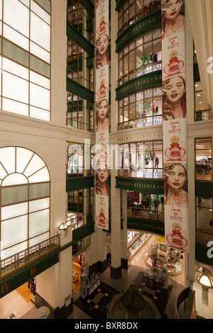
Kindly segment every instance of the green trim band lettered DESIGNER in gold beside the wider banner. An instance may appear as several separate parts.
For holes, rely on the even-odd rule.
[[[116,177],[116,188],[141,193],[163,194],[163,180]]]

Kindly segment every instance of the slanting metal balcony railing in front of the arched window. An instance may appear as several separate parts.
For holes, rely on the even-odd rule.
[[[0,277],[4,276],[7,273],[16,271],[16,269],[24,266],[31,261],[38,259],[41,255],[46,252],[50,252],[52,249],[60,247],[60,235],[56,235],[49,239],[46,239],[44,242],[29,247],[13,256],[9,256],[4,260],[0,261]]]

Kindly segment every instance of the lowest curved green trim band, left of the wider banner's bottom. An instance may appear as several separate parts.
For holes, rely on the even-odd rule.
[[[127,218],[127,229],[130,230],[141,230],[151,232],[160,236],[165,236],[165,225],[164,223],[144,220],[140,218]]]

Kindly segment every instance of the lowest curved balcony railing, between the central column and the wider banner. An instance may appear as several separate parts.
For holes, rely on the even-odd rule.
[[[127,209],[127,215],[129,218],[136,217],[144,220],[154,220],[158,222],[164,222],[164,212],[159,210],[148,210],[146,208],[131,207]]]

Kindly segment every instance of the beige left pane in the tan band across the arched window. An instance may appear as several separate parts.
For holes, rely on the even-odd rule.
[[[9,205],[11,203],[20,203],[28,200],[28,186],[13,186],[1,188],[1,205]]]

